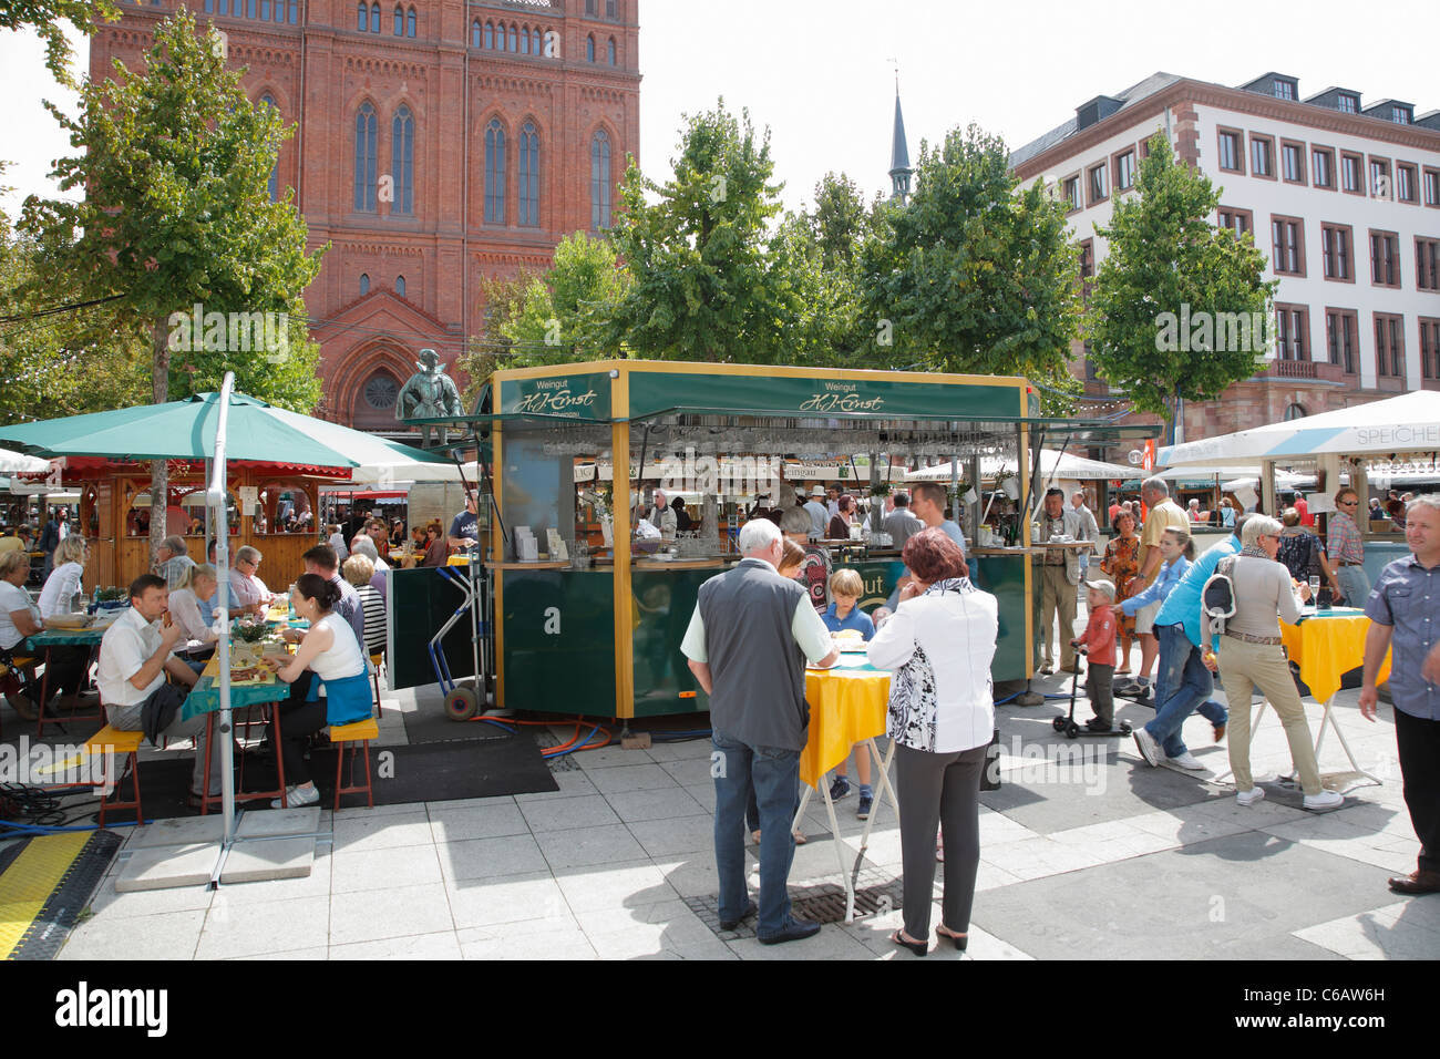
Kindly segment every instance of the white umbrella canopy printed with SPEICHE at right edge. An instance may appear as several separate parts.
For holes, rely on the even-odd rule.
[[[1440,450],[1440,393],[1414,390],[1388,401],[1171,445],[1159,451],[1159,461],[1166,467],[1211,467],[1434,450]]]

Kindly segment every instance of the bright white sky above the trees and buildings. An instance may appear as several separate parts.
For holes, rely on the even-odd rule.
[[[770,127],[791,209],[809,200],[828,170],[848,173],[867,197],[888,189],[891,59],[912,161],[922,138],[937,143],[972,121],[1020,147],[1077,104],[1158,69],[1227,85],[1277,69],[1300,79],[1302,97],[1342,85],[1358,89],[1365,107],[1395,98],[1416,114],[1440,108],[1434,0],[1388,0],[1382,14],[1335,0],[1089,9],[1077,0],[641,0],[639,13],[647,174],[668,176],[681,114],[724,95],[736,112],[749,107],[757,128]],[[86,69],[84,40],[78,53]],[[0,158],[13,163],[4,183],[17,189],[0,206],[12,216],[26,193],[53,193],[45,174],[68,150],[40,98],[71,111],[73,104],[42,55],[33,35],[0,32]]]

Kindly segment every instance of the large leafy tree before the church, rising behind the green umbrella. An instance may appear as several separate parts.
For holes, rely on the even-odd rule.
[[[219,35],[197,33],[181,9],[157,26],[143,72],[117,61],[112,79],[85,85],[78,118],[46,105],[79,150],[52,176],[85,197],[26,200],[22,228],[39,241],[42,282],[105,298],[121,326],[148,334],[157,403],[213,388],[229,367],[255,396],[314,408],[317,347],[301,292],[320,254],[307,251],[291,196],[271,202],[268,189],[291,130],[251,104]],[[203,333],[186,326],[196,307]],[[212,313],[243,326],[216,336]],[[255,318],[264,341],[246,323]],[[157,463],[151,496],[166,486]],[[153,537],[163,530],[156,520]]]

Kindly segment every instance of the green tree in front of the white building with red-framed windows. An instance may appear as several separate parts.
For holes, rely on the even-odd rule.
[[[1178,399],[1214,401],[1254,375],[1277,284],[1261,278],[1250,235],[1211,223],[1220,190],[1208,177],[1178,163],[1164,135],[1149,147],[1138,195],[1117,197],[1109,228],[1096,229],[1109,249],[1087,333],[1096,372],[1136,411],[1162,415],[1174,439]],[[1195,326],[1181,334],[1187,318]]]

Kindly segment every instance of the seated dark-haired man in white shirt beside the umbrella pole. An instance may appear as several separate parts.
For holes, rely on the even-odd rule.
[[[174,656],[184,637],[179,624],[161,624],[170,589],[157,573],[141,573],[130,585],[130,608],[105,630],[99,643],[95,683],[105,705],[105,719],[121,732],[145,732],[150,742],[194,736],[194,771],[190,797],[199,798],[204,782],[206,715],[180,719],[180,706],[199,677]],[[166,682],[170,674],[173,683]],[[222,742],[210,748],[210,794],[220,792]]]

